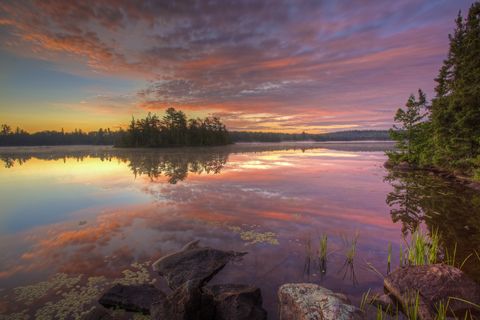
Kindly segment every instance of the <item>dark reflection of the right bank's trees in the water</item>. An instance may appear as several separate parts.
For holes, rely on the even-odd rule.
[[[442,247],[453,252],[457,244],[457,261],[461,263],[480,248],[480,192],[457,181],[426,171],[391,170],[385,177],[393,190],[386,202],[394,222],[402,223],[408,235],[421,224],[437,230]],[[480,252],[479,252],[480,253]],[[480,268],[475,257],[465,266],[476,279]]]

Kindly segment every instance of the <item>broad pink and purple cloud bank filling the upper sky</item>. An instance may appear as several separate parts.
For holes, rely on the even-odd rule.
[[[0,30],[9,50],[146,81],[140,110],[173,105],[310,119],[358,112],[338,124],[346,127],[366,120],[365,112],[372,121],[361,126],[388,127],[410,92],[431,92],[452,18],[467,4],[7,1]],[[227,124],[240,128],[235,123]]]

